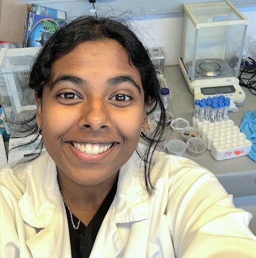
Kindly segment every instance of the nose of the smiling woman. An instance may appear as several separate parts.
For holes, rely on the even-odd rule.
[[[79,127],[99,130],[111,126],[109,108],[100,98],[87,100],[81,107]]]

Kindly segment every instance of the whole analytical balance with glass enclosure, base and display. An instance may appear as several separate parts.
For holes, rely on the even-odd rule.
[[[239,69],[249,20],[230,2],[184,4],[184,78],[195,99],[225,95],[243,105]]]

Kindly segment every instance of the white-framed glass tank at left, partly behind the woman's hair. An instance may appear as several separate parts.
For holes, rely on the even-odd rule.
[[[38,49],[0,49],[0,104],[11,136],[20,135],[20,121],[36,109],[33,91],[28,87],[28,76]]]

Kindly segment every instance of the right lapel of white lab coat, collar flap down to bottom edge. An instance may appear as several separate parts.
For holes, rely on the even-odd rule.
[[[138,174],[140,160],[135,152],[120,168],[116,195],[103,219],[90,258],[120,256],[128,228],[135,221],[149,218],[149,195]]]

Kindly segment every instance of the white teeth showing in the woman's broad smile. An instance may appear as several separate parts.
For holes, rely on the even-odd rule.
[[[114,143],[109,144],[94,144],[94,143],[79,143],[72,142],[72,145],[81,152],[85,152],[88,155],[96,155],[102,152],[107,151]]]

